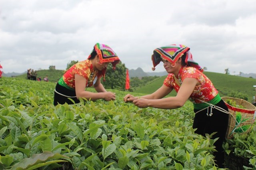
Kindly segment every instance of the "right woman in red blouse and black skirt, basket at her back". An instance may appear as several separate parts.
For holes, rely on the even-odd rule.
[[[176,44],[156,48],[153,51],[152,61],[153,70],[162,61],[164,68],[169,73],[162,87],[150,95],[141,97],[128,94],[124,97],[124,101],[133,102],[140,108],[177,109],[189,99],[193,103],[196,113],[193,123],[193,128],[197,128],[195,132],[203,136],[206,133],[217,132],[213,136],[213,138],[219,138],[214,143],[217,150],[214,152],[214,156],[216,164],[223,167],[222,143],[225,140],[228,127],[228,114],[223,113],[220,109],[228,111],[228,108],[210,79],[202,73],[203,69],[193,60],[190,48]],[[175,97],[163,98],[173,89],[177,92]]]

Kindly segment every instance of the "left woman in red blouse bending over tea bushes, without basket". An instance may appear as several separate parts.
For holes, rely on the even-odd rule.
[[[105,78],[106,69],[109,63],[113,68],[119,62],[116,53],[105,44],[96,43],[92,53],[84,61],[71,66],[58,81],[54,92],[54,105],[79,103],[79,98],[87,100],[104,99],[115,100],[115,93],[108,92],[100,82]],[[87,87],[94,86],[98,93],[86,91]]]

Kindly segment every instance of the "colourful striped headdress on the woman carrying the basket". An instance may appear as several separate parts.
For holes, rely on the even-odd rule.
[[[152,55],[153,61],[153,68],[155,70],[156,65],[162,61],[162,59],[169,61],[170,63],[174,64],[176,61],[182,57],[182,55],[186,54],[185,63],[188,66],[195,67],[196,69],[203,71],[202,67],[196,63],[193,58],[192,54],[190,53],[190,48],[186,47],[185,45],[166,45],[164,47],[159,47],[154,49]]]

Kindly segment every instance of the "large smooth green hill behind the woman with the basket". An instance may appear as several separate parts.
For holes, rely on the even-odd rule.
[[[227,96],[228,93],[236,91],[248,95],[248,101],[252,100],[252,96],[255,95],[253,85],[256,85],[256,79],[240,77],[235,75],[227,75],[222,73],[213,73],[205,71],[204,74],[212,81],[216,89],[219,91],[220,96]],[[149,94],[156,91],[162,86],[166,76],[159,77],[148,83],[147,85],[136,89],[134,92]],[[175,96],[176,92],[172,91],[170,96]]]

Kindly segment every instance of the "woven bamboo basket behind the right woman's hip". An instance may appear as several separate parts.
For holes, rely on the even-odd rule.
[[[235,101],[236,105],[241,105],[243,107],[243,109],[241,109],[241,108],[234,107],[234,106],[226,103],[226,105],[228,107],[228,112],[230,113],[229,117],[228,117],[228,128],[226,131],[226,138],[230,139],[230,138],[233,138],[233,135],[235,133],[235,132],[233,132],[232,134],[230,134],[236,126],[236,113],[240,112],[242,119],[248,119],[237,126],[238,128],[241,129],[241,127],[243,127],[244,125],[252,125],[254,123],[253,118],[254,118],[254,112],[256,111],[256,107],[244,99],[238,99],[238,98],[234,98],[234,97],[221,97],[221,99],[225,103],[228,99],[230,99],[232,101]],[[250,131],[250,128],[248,128],[243,133],[248,133],[249,131]]]

